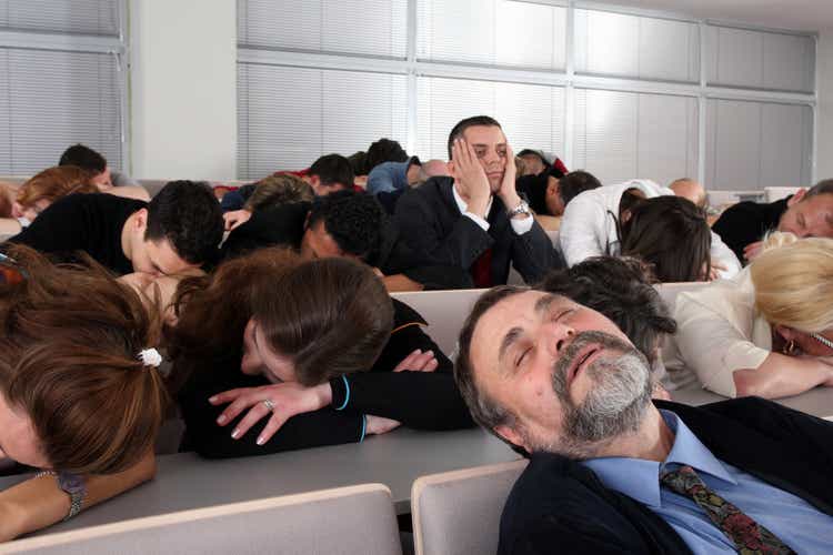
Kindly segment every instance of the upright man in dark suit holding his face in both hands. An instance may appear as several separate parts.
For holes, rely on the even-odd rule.
[[[563,268],[544,230],[515,190],[515,164],[503,130],[488,115],[454,125],[450,178],[431,178],[397,203],[402,238],[420,255],[469,272],[475,286],[506,283],[514,263],[528,283]]]

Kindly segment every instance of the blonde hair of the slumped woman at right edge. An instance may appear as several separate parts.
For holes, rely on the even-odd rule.
[[[750,273],[755,306],[771,324],[805,333],[833,327],[833,239],[773,233]]]

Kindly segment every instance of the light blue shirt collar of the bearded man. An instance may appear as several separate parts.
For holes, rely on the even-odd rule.
[[[688,464],[699,473],[737,484],[723,464],[676,414],[665,410],[660,410],[660,413],[674,433],[674,444],[662,463],[644,458],[601,457],[590,458],[582,464],[592,470],[606,487],[653,507],[662,506],[660,475],[676,468],[678,465]]]

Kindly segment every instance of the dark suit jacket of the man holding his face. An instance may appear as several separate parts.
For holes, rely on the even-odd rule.
[[[506,283],[510,263],[528,283],[541,280],[551,269],[565,266],[538,222],[522,235],[512,230],[506,209],[496,196],[486,218],[489,231],[483,231],[460,213],[453,184],[451,178],[431,178],[397,202],[395,221],[405,242],[418,253],[469,271],[483,252],[492,249],[495,285]]]

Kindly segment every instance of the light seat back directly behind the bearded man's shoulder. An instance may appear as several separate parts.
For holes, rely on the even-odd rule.
[[[496,553],[503,505],[526,461],[422,476],[411,514],[416,555]]]

